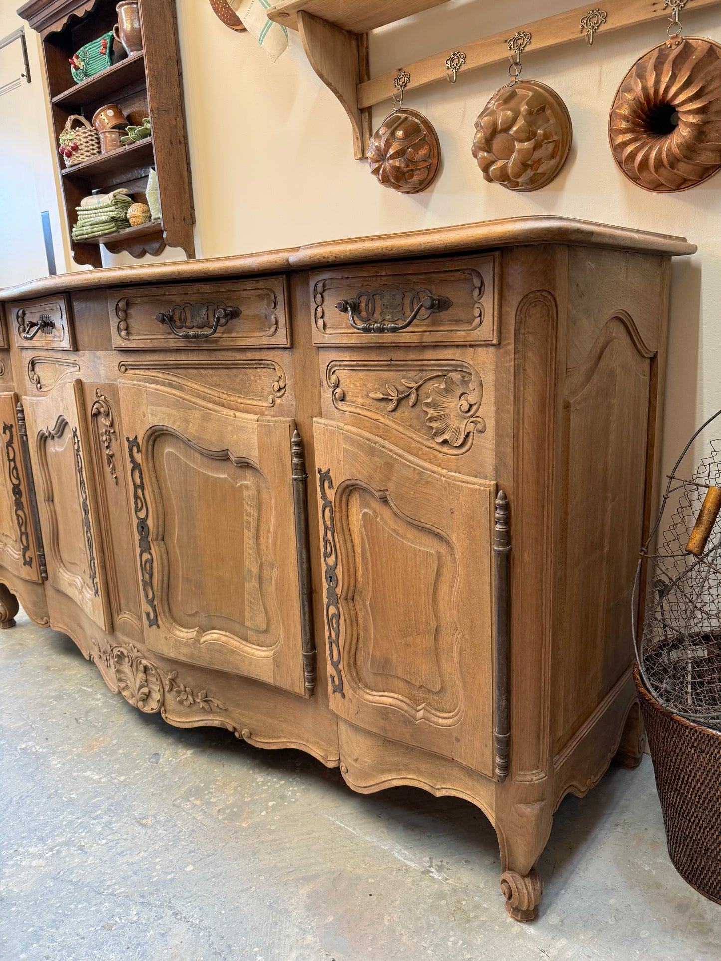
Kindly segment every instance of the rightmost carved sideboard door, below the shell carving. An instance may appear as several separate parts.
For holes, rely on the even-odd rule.
[[[493,775],[496,485],[315,421],[331,705]]]

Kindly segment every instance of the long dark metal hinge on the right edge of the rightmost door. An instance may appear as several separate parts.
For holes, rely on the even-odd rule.
[[[496,498],[495,522],[493,747],[496,777],[503,783],[510,770],[510,504],[505,490],[499,490]]]

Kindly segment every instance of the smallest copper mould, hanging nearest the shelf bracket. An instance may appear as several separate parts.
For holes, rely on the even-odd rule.
[[[420,193],[438,172],[440,144],[430,120],[404,109],[385,117],[370,138],[366,156],[379,184],[400,193]]]

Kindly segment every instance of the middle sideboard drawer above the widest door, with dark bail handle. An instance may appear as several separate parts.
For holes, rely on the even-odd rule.
[[[108,291],[118,350],[287,347],[285,277]]]

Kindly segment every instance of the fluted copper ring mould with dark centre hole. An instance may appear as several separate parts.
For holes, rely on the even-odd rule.
[[[637,60],[609,116],[613,158],[635,185],[672,192],[721,166],[721,46],[688,37]]]

